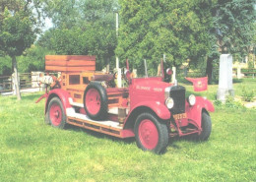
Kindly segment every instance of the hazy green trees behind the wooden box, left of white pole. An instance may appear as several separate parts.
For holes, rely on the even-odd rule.
[[[45,2],[46,14],[52,19],[54,28],[40,37],[40,45],[57,54],[95,54],[97,69],[113,57],[116,0]]]

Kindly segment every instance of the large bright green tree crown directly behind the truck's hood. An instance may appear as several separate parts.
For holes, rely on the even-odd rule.
[[[121,26],[116,53],[125,59],[134,59],[140,68],[142,59],[154,65],[162,54],[168,65],[179,66],[186,59],[202,57],[209,49],[206,31],[209,12],[207,1],[159,0],[120,1]],[[197,14],[198,13],[198,14]]]

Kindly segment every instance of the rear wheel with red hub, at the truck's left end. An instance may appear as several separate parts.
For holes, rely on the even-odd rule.
[[[45,123],[50,124],[54,128],[64,129],[67,125],[66,119],[61,100],[58,97],[53,97],[48,104]]]

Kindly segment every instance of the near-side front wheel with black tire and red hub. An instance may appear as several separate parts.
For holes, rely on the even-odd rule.
[[[135,138],[138,148],[156,153],[164,152],[168,145],[168,130],[165,123],[152,113],[140,114],[135,122]]]

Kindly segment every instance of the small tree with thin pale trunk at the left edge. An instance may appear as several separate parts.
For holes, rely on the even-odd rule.
[[[0,50],[12,58],[17,98],[21,99],[16,57],[32,45],[36,30],[29,10],[30,1],[2,1],[0,3]],[[10,9],[9,9],[10,8]]]

